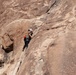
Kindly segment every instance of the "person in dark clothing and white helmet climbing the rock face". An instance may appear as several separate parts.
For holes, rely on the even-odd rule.
[[[28,29],[27,35],[24,36],[24,43],[25,43],[25,45],[23,47],[23,51],[24,51],[25,48],[26,49],[28,48],[28,44],[30,43],[30,41],[32,39],[32,35],[33,35],[32,29]]]

